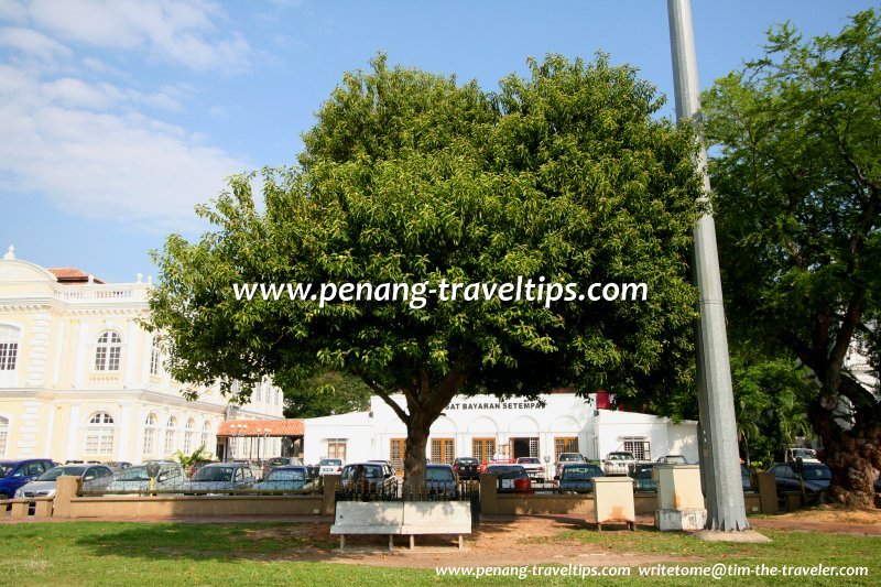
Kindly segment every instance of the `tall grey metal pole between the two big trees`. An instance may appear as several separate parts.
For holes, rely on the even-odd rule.
[[[667,0],[670,46],[673,53],[673,80],[676,119],[695,120],[700,129],[700,95],[697,86],[697,57],[689,0]],[[703,135],[700,137],[703,143]],[[698,204],[708,205],[707,151],[701,144],[695,165],[704,178]],[[694,232],[694,280],[698,289],[700,319],[697,324],[698,404],[703,434],[698,442],[701,479],[707,499],[707,530],[748,530],[737,446],[731,367],[725,331],[719,254],[716,225],[707,206]]]

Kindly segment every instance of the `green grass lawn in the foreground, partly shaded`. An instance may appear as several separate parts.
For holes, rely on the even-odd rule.
[[[433,568],[395,568],[363,564],[280,561],[308,548],[322,554],[336,541],[297,532],[297,524],[186,524],[135,522],[65,522],[0,525],[1,585],[458,585],[468,579],[437,577]],[[536,540],[579,541],[609,553],[609,564],[627,565],[628,555],[662,554],[694,557],[689,565],[715,563],[754,566],[867,566],[868,577],[727,577],[710,578],[572,578],[533,577],[474,580],[483,585],[878,585],[881,583],[881,537],[807,532],[763,532],[770,544],[699,542],[677,533],[648,530],[596,532],[578,530]],[[530,540],[530,539],[524,539]],[[378,550],[376,556],[382,556]],[[565,561],[564,564],[575,563]],[[455,565],[455,551],[438,564]],[[513,563],[512,563],[513,564]],[[635,570],[634,570],[635,575]]]

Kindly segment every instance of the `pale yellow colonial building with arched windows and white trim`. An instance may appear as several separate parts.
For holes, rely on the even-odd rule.
[[[242,406],[216,389],[183,398],[139,322],[150,281],[108,284],[9,248],[0,260],[0,458],[139,463],[202,444],[221,458],[280,454],[282,439],[268,434],[217,435],[227,421],[282,418],[271,383]]]

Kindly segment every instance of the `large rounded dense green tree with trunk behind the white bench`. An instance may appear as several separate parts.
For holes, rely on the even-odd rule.
[[[699,193],[692,134],[630,67],[552,56],[487,94],[418,69],[347,74],[296,169],[265,170],[173,235],[155,259],[155,328],[171,372],[242,393],[315,369],[360,378],[406,424],[405,483],[425,474],[432,423],[457,393],[553,387],[668,393],[690,383],[687,280]],[[233,283],[642,282],[642,302],[240,301]],[[402,393],[404,404],[392,398]]]

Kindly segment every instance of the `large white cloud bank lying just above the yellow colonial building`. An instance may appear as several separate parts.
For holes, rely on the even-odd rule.
[[[73,77],[41,83],[0,65],[0,189],[41,193],[65,210],[144,228],[192,225],[193,207],[250,165],[135,108],[173,104],[175,91],[186,88],[142,95]]]

